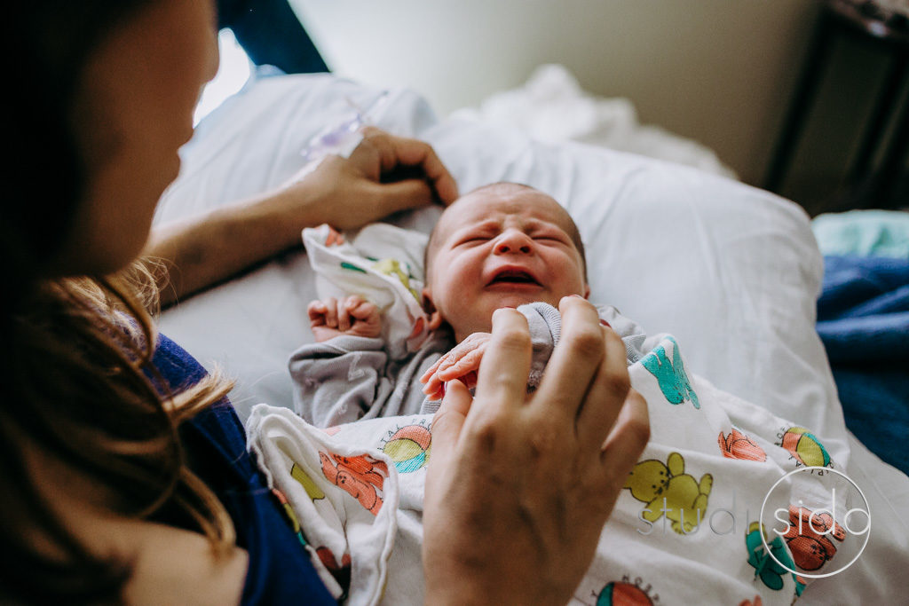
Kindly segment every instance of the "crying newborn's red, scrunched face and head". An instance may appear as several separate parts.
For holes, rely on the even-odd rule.
[[[571,217],[551,197],[500,184],[467,194],[439,219],[427,255],[428,303],[460,343],[492,328],[493,312],[586,297],[584,261],[569,235]]]

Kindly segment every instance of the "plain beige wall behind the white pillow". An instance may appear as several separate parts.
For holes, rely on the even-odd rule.
[[[712,147],[760,184],[814,0],[292,0],[335,72],[408,85],[439,114],[566,65],[641,122]],[[835,164],[835,163],[834,163]]]

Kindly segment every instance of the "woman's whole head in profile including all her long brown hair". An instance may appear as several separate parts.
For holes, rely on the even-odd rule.
[[[214,4],[31,0],[13,3],[4,23],[0,51],[17,87],[0,204],[9,293],[0,298],[0,601],[108,600],[128,562],[99,560],[63,503],[132,517],[177,503],[215,541],[233,536],[185,468],[175,429],[229,385],[212,379],[174,394],[155,381],[154,328],[125,275],[141,269],[131,262],[215,72]]]

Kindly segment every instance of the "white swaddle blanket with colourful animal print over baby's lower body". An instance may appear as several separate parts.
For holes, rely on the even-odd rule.
[[[672,336],[648,343],[628,370],[648,404],[651,441],[572,603],[792,603],[810,581],[796,572],[823,573],[863,539],[846,536],[845,503],[832,506],[820,482],[843,468],[847,447],[688,373]],[[423,601],[431,422],[411,415],[317,429],[261,404],[247,423],[269,485],[346,603]],[[779,482],[808,467],[818,469]]]

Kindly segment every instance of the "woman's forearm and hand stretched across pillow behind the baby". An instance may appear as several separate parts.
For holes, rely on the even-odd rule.
[[[402,170],[410,178],[394,180]],[[166,305],[301,245],[305,227],[354,229],[456,197],[454,179],[429,144],[367,128],[349,158],[326,157],[275,192],[155,228],[145,257],[165,266],[159,286]]]

